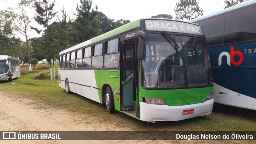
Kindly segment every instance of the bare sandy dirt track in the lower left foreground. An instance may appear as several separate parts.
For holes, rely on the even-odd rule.
[[[4,96],[0,92],[0,131],[132,131],[104,124],[97,118],[51,108],[30,99]],[[113,144],[166,143],[153,140],[0,140],[4,144]]]

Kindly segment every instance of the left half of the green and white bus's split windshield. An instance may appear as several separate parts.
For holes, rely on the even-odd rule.
[[[142,62],[143,84],[147,88],[185,86],[180,37],[173,35],[170,37],[178,47],[174,48],[164,34],[147,35],[146,59]]]

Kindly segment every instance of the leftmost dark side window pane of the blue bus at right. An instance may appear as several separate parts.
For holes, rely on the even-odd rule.
[[[208,46],[223,44],[224,14],[196,22],[203,26]]]

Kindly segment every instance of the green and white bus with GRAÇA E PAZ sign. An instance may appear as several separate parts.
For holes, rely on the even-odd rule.
[[[201,26],[139,19],[60,52],[59,85],[147,122],[208,115],[213,83]]]

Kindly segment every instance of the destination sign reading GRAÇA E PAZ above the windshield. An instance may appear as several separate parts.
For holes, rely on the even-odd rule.
[[[145,20],[146,30],[204,35],[201,26],[171,20]]]

